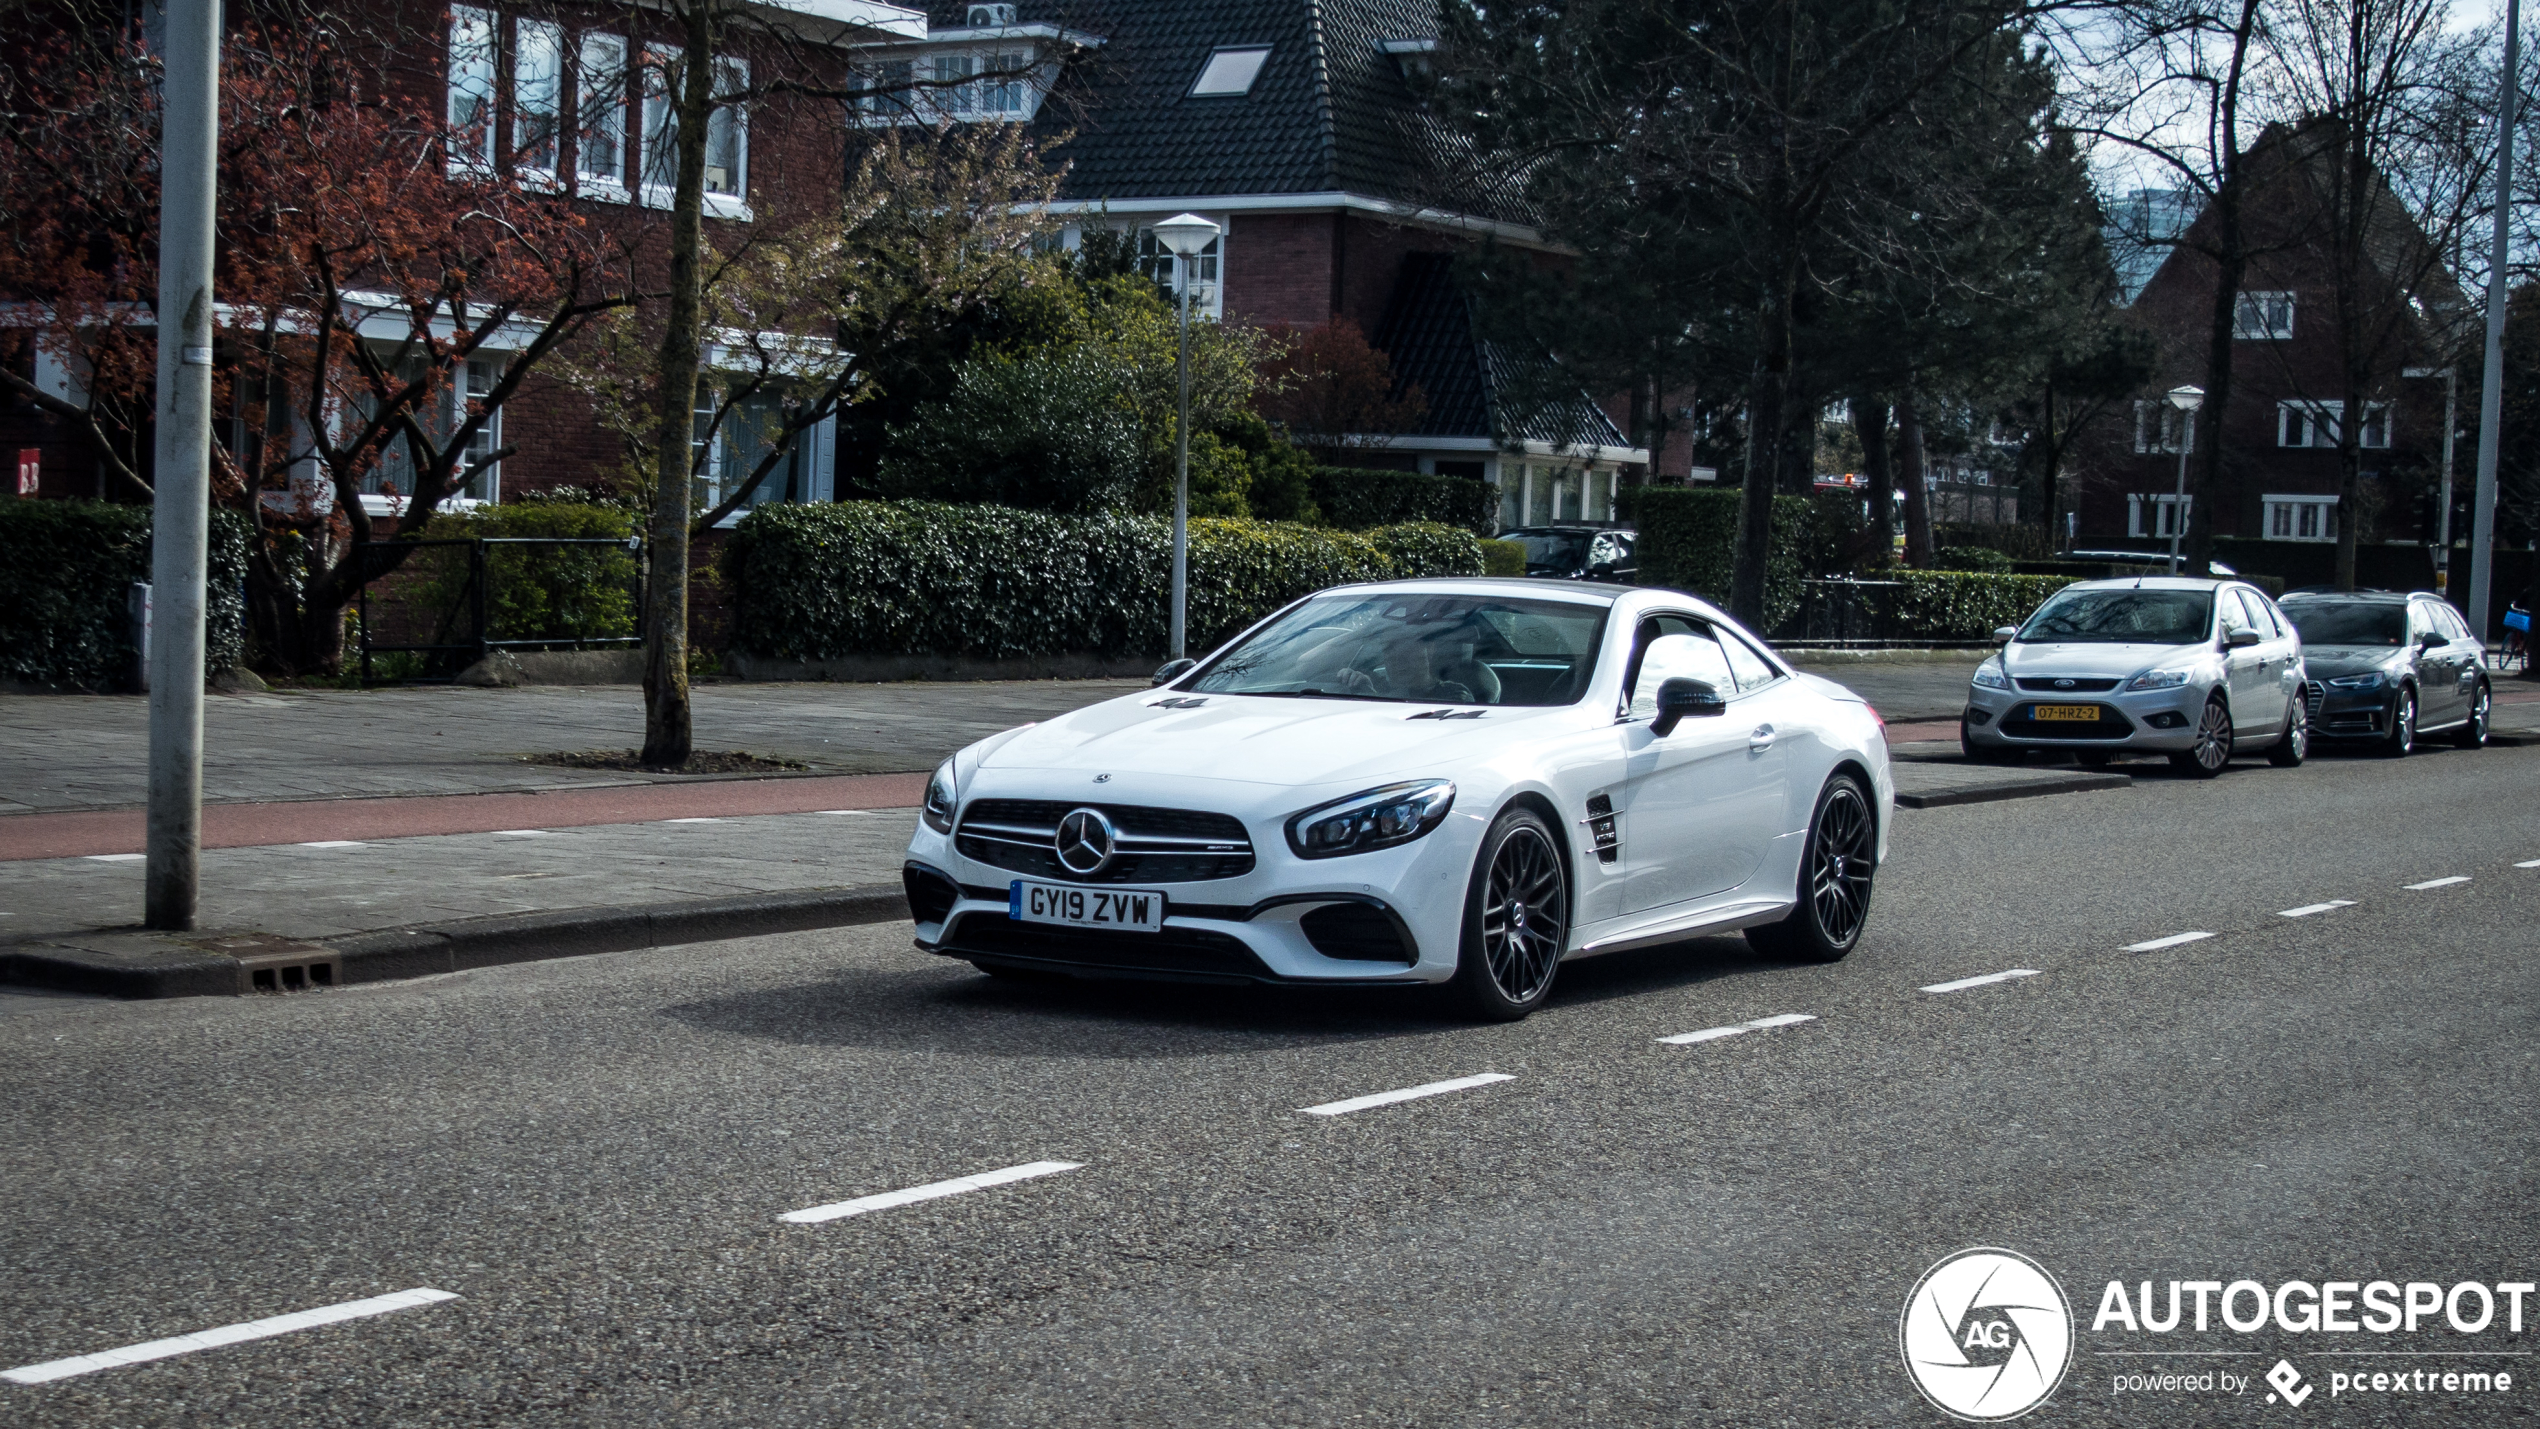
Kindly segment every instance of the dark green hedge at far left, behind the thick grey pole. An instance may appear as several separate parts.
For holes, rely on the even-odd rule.
[[[203,670],[244,655],[246,518],[211,513]],[[150,579],[150,508],[0,500],[0,678],[112,690],[132,670],[127,586]]]

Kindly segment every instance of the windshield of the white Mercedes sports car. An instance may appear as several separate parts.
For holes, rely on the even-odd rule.
[[[1567,706],[1588,688],[1605,604],[1506,596],[1313,596],[1209,660],[1209,695]]]

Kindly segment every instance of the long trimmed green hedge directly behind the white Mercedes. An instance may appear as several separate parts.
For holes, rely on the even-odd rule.
[[[737,650],[838,655],[1148,655],[1166,645],[1173,528],[1153,515],[1003,505],[762,505],[721,556]],[[1367,536],[1191,523],[1191,650],[1273,609],[1397,574],[1476,576],[1481,543],[1435,525]]]

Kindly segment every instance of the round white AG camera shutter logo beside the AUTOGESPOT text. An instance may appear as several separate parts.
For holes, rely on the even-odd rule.
[[[2019,1419],[2073,1363],[2073,1307],[2029,1256],[1974,1246],[1923,1272],[1897,1343],[1905,1373],[1941,1414]]]

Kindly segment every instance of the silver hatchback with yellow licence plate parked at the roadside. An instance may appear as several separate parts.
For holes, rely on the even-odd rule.
[[[1994,637],[2002,655],[1976,665],[1958,718],[1968,759],[2149,751],[2210,779],[2243,749],[2281,767],[2309,751],[2301,635],[2258,586],[2078,581]]]

